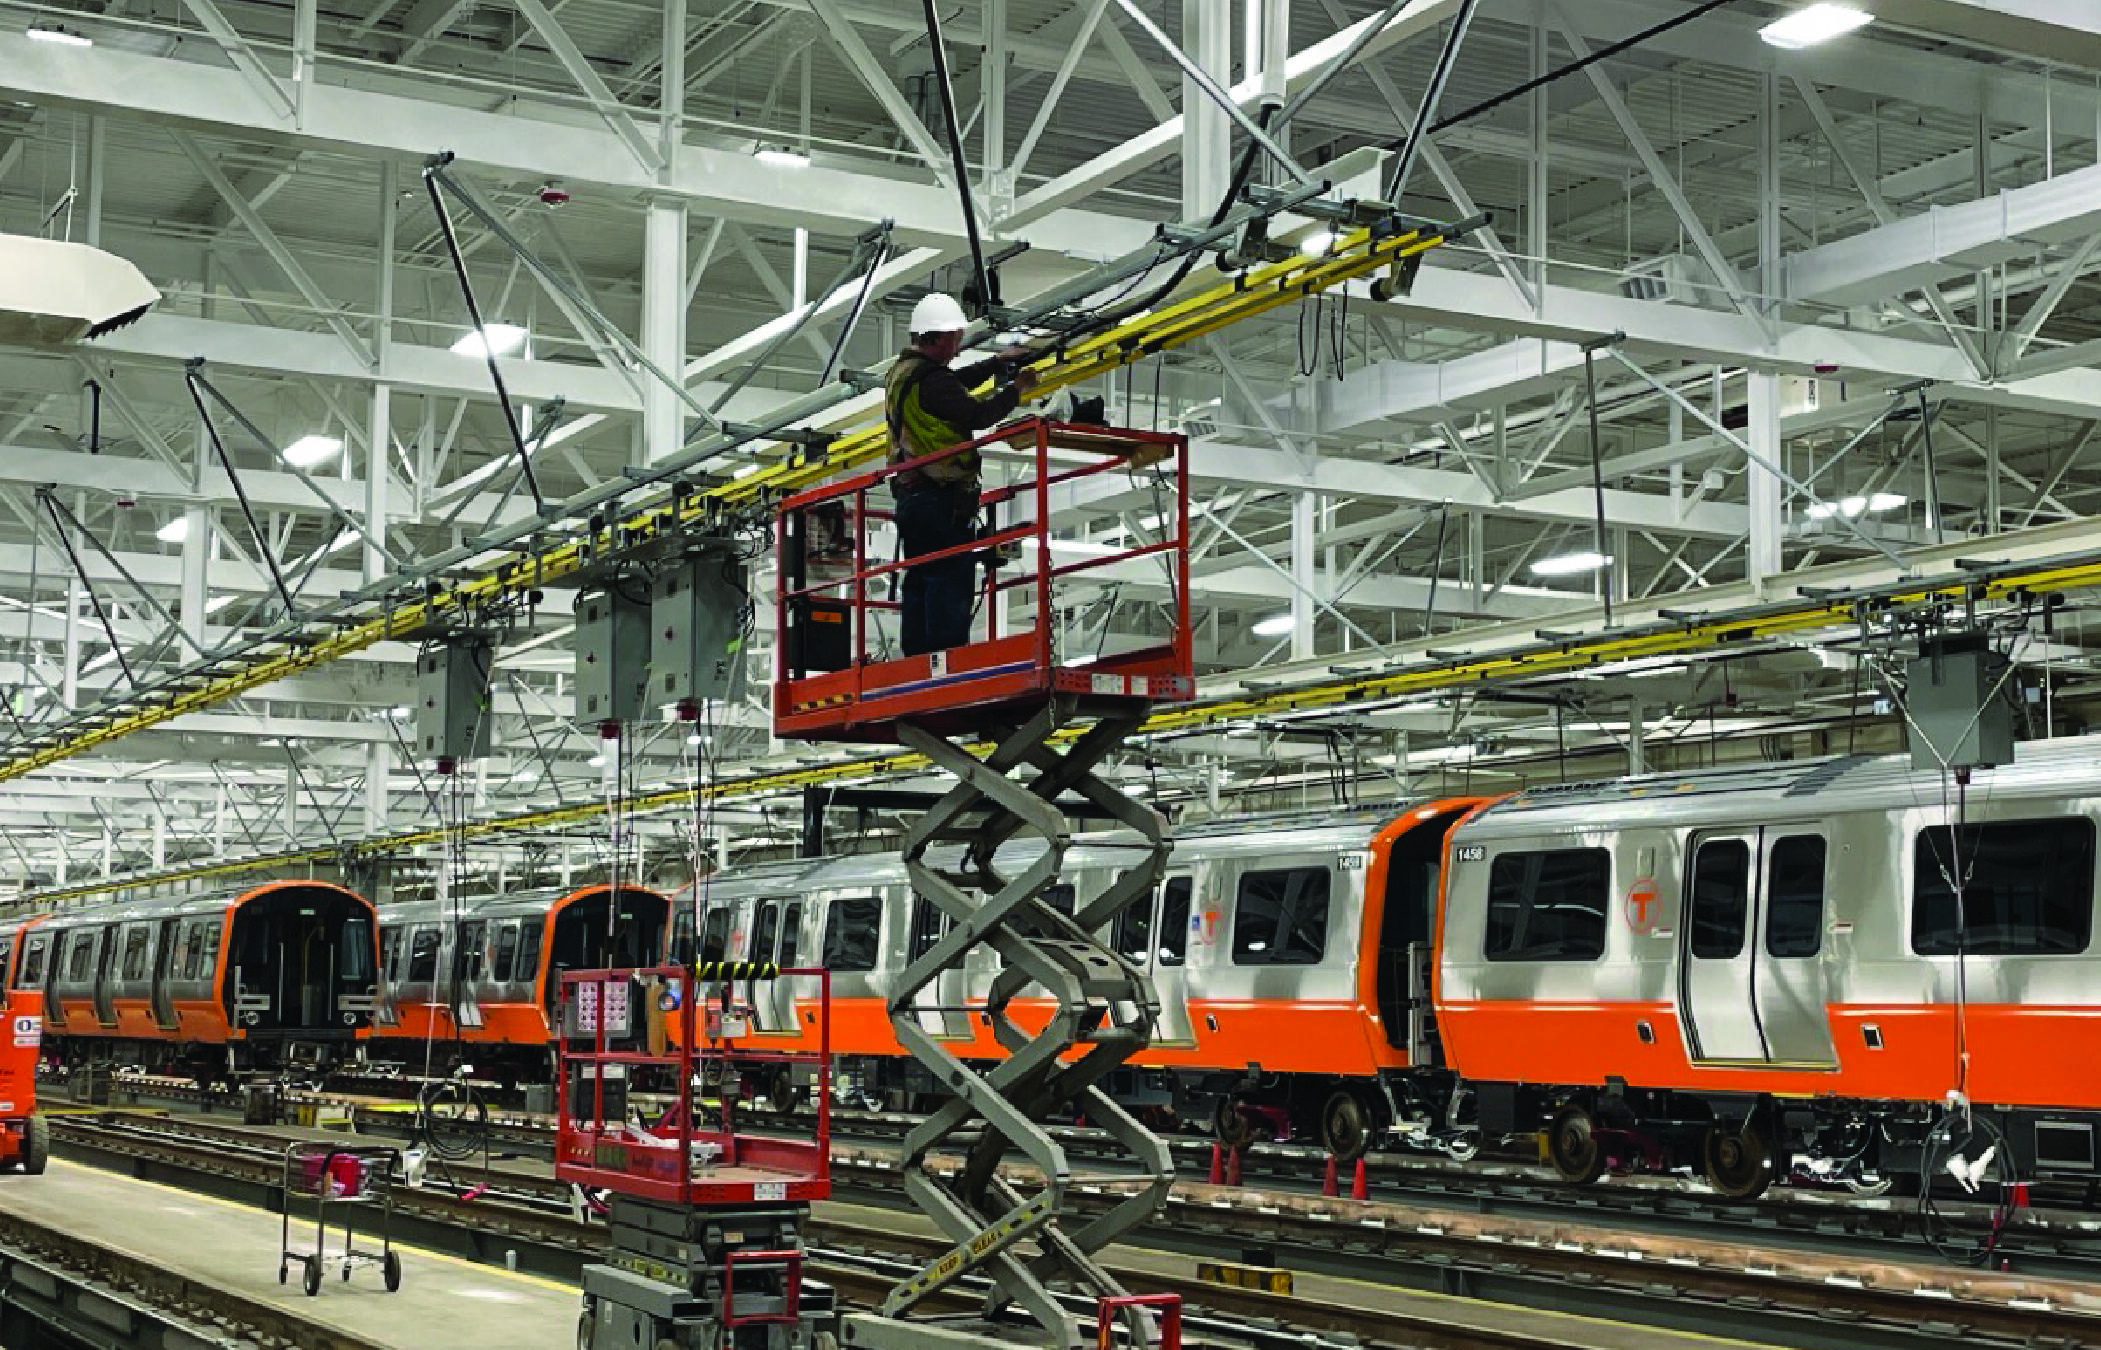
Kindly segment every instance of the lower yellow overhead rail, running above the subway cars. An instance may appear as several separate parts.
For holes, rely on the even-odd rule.
[[[1639,661],[1645,657],[1691,657],[1725,647],[1746,647],[1773,638],[1788,638],[1834,624],[1853,624],[1857,607],[1872,600],[1882,607],[1908,607],[1935,600],[1960,603],[1964,598],[2004,600],[2019,592],[2046,594],[2063,590],[2086,590],[2101,586],[2101,556],[2080,554],[2072,558],[2046,558],[2025,565],[2004,565],[1992,571],[1941,577],[1931,582],[1904,582],[1868,592],[1830,594],[1782,603],[1738,615],[1712,615],[1689,619],[1635,634],[1601,634],[1597,638],[1572,638],[1563,642],[1542,642],[1538,647],[1490,657],[1469,657],[1460,661],[1429,663],[1414,670],[1385,674],[1357,674],[1303,684],[1298,689],[1277,689],[1237,699],[1214,699],[1208,703],[1185,703],[1153,714],[1139,735],[1191,733],[1225,722],[1248,722],[1288,712],[1309,712],[1324,708],[1349,708],[1353,703],[1378,703],[1412,693],[1435,693],[1441,689],[1469,689],[1498,684],[1506,680],[1530,680],[1538,676],[1569,674],[1616,661]],[[1069,731],[1067,737],[1080,735]],[[731,802],[775,792],[817,787],[840,779],[859,779],[885,773],[910,773],[924,768],[927,760],[916,754],[880,754],[836,764],[815,764],[756,773],[729,781],[702,783],[698,787],[668,787],[664,792],[641,794],[613,802],[626,813],[656,813],[691,808],[695,800]],[[607,802],[582,802],[534,810],[511,817],[496,817],[464,825],[460,838],[490,838],[500,834],[521,834],[532,829],[553,829],[578,825],[605,815]],[[206,863],[200,867],[176,867],[149,878],[122,882],[97,882],[65,890],[46,890],[25,897],[19,905],[44,905],[141,886],[162,886],[174,882],[195,882],[242,871],[263,871],[273,867],[298,867],[340,861],[347,852],[387,855],[420,844],[437,844],[443,829],[416,829],[408,834],[359,840],[345,848],[305,848],[233,863]]]

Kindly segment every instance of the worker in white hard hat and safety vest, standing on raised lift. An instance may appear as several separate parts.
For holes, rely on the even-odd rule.
[[[962,304],[939,292],[912,307],[912,346],[897,355],[882,382],[891,464],[931,456],[998,426],[1036,388],[1036,374],[1021,370],[1021,361],[1034,355],[1025,346],[950,370],[969,323]],[[1002,386],[975,397],[971,391],[987,380],[1002,380]],[[975,449],[908,468],[891,479],[891,491],[897,495],[897,544],[906,561],[977,537],[981,487]],[[903,655],[969,642],[975,592],[977,554],[906,567]]]

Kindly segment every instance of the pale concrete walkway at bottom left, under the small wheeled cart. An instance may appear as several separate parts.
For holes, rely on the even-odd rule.
[[[321,1293],[307,1298],[296,1266],[288,1285],[277,1283],[277,1216],[78,1163],[53,1161],[44,1176],[0,1176],[0,1239],[11,1214],[399,1350],[576,1346],[580,1302],[569,1285],[397,1243],[399,1293],[387,1293],[376,1266],[357,1268],[349,1283],[336,1266]],[[313,1222],[294,1222],[294,1247],[311,1241]],[[340,1230],[330,1235],[330,1249],[336,1241]]]

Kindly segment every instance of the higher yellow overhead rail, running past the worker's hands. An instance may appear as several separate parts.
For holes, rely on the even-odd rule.
[[[1456,233],[1462,233],[1462,229],[1471,229],[1471,225],[1450,227],[1450,233],[1427,229],[1387,237],[1374,237],[1370,229],[1357,229],[1345,235],[1328,254],[1298,254],[1284,262],[1250,269],[1214,288],[1128,319],[1076,342],[1063,353],[1032,363],[1038,376],[1032,399],[1107,374],[1120,365],[1143,361],[1153,353],[1181,346],[1183,342],[1303,296],[1332,290],[1380,269],[1399,267],[1408,258],[1445,244]],[[685,500],[641,510],[626,519],[620,529],[626,531],[626,537],[651,537],[687,523],[706,521],[712,512],[750,510],[775,493],[790,493],[811,483],[821,483],[840,470],[880,460],[887,449],[889,430],[878,420],[870,428],[832,441],[821,456],[798,458],[790,453],[779,464],[761,472],[708,487]],[[607,529],[590,537],[574,537],[546,552],[513,554],[485,575],[437,590],[420,600],[389,607],[366,621],[347,626],[311,645],[284,649],[244,663],[237,670],[212,676],[193,689],[172,693],[147,708],[134,708],[113,716],[109,722],[71,733],[53,745],[0,762],[0,781],[19,779],[25,773],[36,773],[97,745],[107,745],[137,731],[170,722],[185,712],[202,712],[273,680],[305,674],[378,642],[414,638],[427,628],[561,582],[582,571],[588,563],[603,558],[603,546],[613,537],[618,535]]]

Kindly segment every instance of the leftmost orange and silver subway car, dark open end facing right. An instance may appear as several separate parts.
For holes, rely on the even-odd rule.
[[[204,1081],[328,1069],[372,1027],[372,903],[328,882],[63,909],[0,926],[8,993],[44,1004],[44,1054]]]

